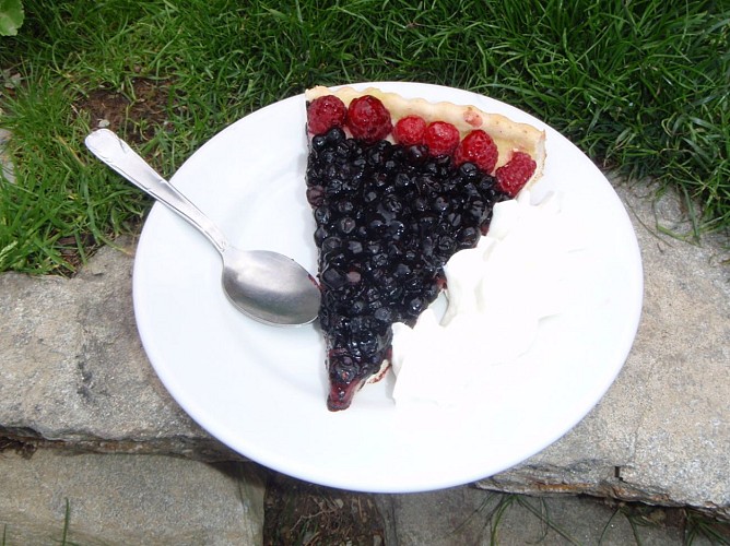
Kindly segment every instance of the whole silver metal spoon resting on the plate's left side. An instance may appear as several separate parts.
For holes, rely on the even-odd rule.
[[[92,132],[85,143],[106,165],[208,237],[223,259],[223,292],[239,311],[273,325],[306,324],[317,318],[319,287],[302,265],[276,252],[231,246],[195,204],[108,129]]]

